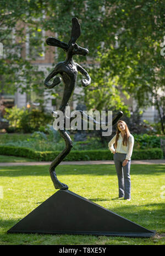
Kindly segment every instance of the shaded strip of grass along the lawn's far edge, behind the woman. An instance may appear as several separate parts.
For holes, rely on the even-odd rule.
[[[0,176],[49,176],[50,166],[5,166],[0,168]],[[116,175],[114,165],[59,165],[57,176],[63,175]],[[164,165],[132,165],[131,175],[159,175],[164,173]]]

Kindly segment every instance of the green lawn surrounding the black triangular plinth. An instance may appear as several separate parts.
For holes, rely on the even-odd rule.
[[[86,235],[7,234],[7,230],[57,190],[49,166],[0,167],[0,244],[164,244],[164,166],[131,166],[131,201],[118,197],[114,165],[62,165],[57,167],[60,181],[69,190],[119,214],[158,235],[128,238]]]

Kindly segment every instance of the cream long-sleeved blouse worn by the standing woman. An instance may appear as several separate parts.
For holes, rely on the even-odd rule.
[[[115,151],[114,146],[113,146],[113,144],[115,143],[115,139],[116,139],[116,135],[108,143],[108,147],[109,147],[109,150],[111,150],[111,152]],[[121,133],[119,133],[117,149],[116,149],[117,153],[127,154],[125,159],[130,160],[131,155],[133,153],[133,146],[134,146],[134,137],[133,137],[133,135],[131,135],[131,134],[129,135],[128,145],[123,146],[123,137],[122,137]]]

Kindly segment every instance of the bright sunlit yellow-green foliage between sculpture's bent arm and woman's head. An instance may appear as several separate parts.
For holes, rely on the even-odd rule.
[[[128,113],[128,106],[124,105],[118,90],[118,76],[110,77],[106,69],[92,68],[89,71],[92,84],[84,89],[84,95],[78,99],[87,107],[87,110],[122,110]],[[75,96],[76,97],[76,96]]]

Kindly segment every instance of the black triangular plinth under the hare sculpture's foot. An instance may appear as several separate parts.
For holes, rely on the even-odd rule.
[[[155,231],[109,211],[69,190],[58,190],[8,233],[151,237]]]

